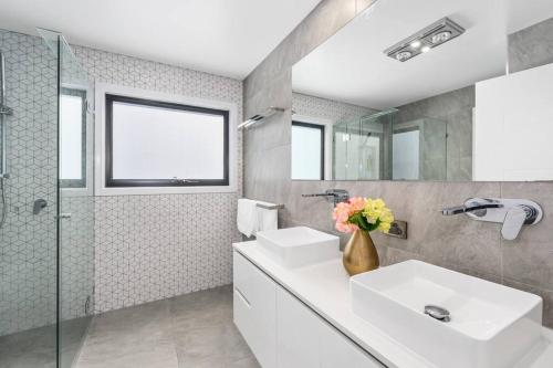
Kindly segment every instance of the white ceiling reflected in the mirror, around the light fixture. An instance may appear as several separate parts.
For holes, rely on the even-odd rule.
[[[405,63],[384,50],[449,17],[466,33]],[[507,34],[553,17],[552,0],[379,0],[293,67],[293,90],[397,107],[501,75]]]

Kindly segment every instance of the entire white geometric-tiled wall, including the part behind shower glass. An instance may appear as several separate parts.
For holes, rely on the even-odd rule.
[[[56,60],[36,36],[0,30],[7,54],[10,117],[9,215],[0,231],[0,335],[55,322]],[[75,46],[96,81],[236,103],[240,81]],[[238,193],[64,198],[73,218],[62,231],[62,317],[132,306],[231,282]],[[49,206],[39,215],[32,203]],[[90,262],[94,256],[94,262]],[[94,282],[92,282],[94,277]]]

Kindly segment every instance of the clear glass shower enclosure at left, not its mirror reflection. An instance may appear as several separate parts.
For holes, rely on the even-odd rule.
[[[39,35],[0,29],[0,367],[71,367],[94,308],[93,83]]]

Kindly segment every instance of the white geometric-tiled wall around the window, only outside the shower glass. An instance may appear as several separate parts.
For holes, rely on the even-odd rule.
[[[242,119],[242,82],[74,46],[96,82],[231,102]],[[231,243],[240,240],[238,193],[96,197],[95,312],[106,312],[232,281]]]

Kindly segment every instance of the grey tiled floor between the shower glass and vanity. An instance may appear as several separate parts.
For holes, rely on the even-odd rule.
[[[259,367],[222,286],[94,318],[76,368]]]

